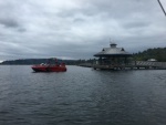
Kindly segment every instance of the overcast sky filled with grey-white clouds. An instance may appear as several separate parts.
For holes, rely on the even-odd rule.
[[[0,61],[92,59],[111,42],[131,53],[166,48],[158,1],[0,0]]]

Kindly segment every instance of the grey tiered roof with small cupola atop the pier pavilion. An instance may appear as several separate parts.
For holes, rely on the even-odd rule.
[[[123,48],[116,48],[115,43],[112,43],[110,48],[104,48],[102,52],[94,54],[94,56],[131,56],[132,54],[126,52]]]

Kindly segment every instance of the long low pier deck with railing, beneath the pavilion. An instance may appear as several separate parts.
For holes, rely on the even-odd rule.
[[[80,66],[93,67],[94,70],[166,70],[166,62],[135,61],[126,65],[81,64]]]

